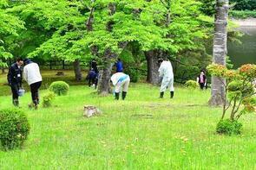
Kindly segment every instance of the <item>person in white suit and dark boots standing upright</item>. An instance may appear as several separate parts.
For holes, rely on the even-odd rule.
[[[170,89],[170,97],[174,98],[174,72],[173,66],[169,60],[158,60],[159,64],[161,64],[158,72],[159,77],[161,78],[161,89],[160,89],[160,98],[163,98],[164,91],[167,88]]]

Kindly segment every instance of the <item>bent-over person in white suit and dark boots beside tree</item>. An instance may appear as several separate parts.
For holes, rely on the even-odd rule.
[[[130,77],[123,72],[116,72],[112,75],[111,81],[115,86],[115,100],[119,100],[119,93],[121,92],[121,99],[126,98],[128,92],[128,86],[130,83]]]

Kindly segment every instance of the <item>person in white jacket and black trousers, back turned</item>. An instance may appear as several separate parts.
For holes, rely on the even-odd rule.
[[[30,85],[32,103],[30,107],[35,107],[39,104],[39,88],[42,85],[42,76],[40,73],[39,66],[31,61],[30,59],[24,60],[23,78]]]

